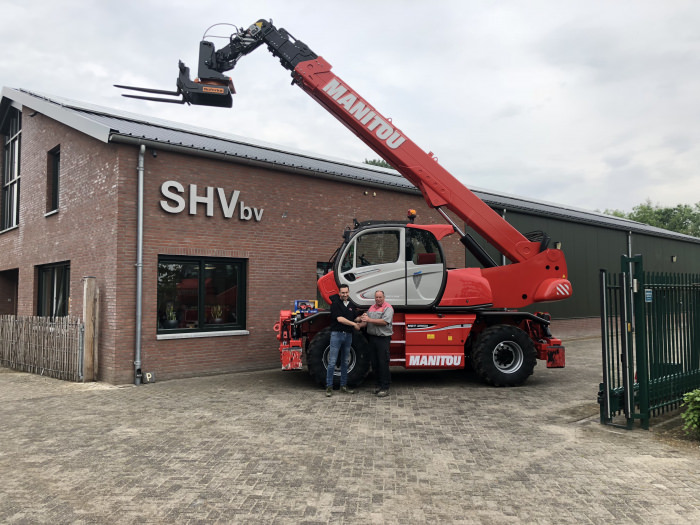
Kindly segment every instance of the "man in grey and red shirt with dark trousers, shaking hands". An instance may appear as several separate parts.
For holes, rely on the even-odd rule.
[[[384,300],[384,292],[377,290],[374,293],[374,304],[362,314],[360,319],[367,323],[367,336],[371,348],[372,370],[376,381],[374,393],[377,397],[389,395],[391,373],[389,371],[389,345],[391,334],[394,331],[392,321],[394,309]]]

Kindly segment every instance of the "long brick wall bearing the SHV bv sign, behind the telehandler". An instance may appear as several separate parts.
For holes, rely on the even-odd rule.
[[[135,309],[135,191],[136,149],[120,147],[122,166],[119,197],[118,310],[125,318]],[[131,166],[129,168],[128,166]],[[186,191],[188,207],[179,214],[165,212],[161,184],[174,180]],[[260,222],[224,218],[215,199],[214,215],[199,205],[190,215],[188,188],[223,188],[227,196],[240,191],[239,205],[262,209]],[[367,194],[365,194],[367,192]],[[211,159],[149,150],[145,162],[144,202],[144,322],[142,370],[170,378],[279,366],[278,342],[272,331],[280,309],[295,299],[316,297],[316,263],[327,261],[342,243],[342,232],[358,220],[405,218],[419,210],[418,222],[444,222],[422,197],[345,184],[304,175],[232,164]],[[464,250],[457,239],[446,243],[448,262],[462,266]],[[238,257],[247,260],[247,304],[244,336],[157,340],[156,277],[159,255]],[[133,360],[133,329],[121,332],[116,361]],[[119,367],[114,380],[131,380],[132,368]]]

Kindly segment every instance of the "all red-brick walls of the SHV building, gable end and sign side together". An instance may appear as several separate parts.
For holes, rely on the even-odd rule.
[[[26,112],[25,112],[26,113]],[[47,153],[60,145],[59,211],[46,215]],[[17,283],[18,315],[36,313],[37,266],[70,261],[71,313],[82,314],[84,276],[101,294],[99,377],[131,383],[134,374],[136,197],[138,147],[104,144],[41,114],[24,115],[20,226],[0,235],[0,299]],[[177,181],[238,190],[238,206],[223,216],[215,195],[205,206],[172,214],[160,201],[161,185]],[[325,180],[246,164],[148,150],[145,157],[142,370],[170,379],[279,366],[272,330],[279,310],[295,299],[316,297],[316,263],[327,261],[342,232],[359,221],[402,220],[418,211],[418,223],[444,219],[422,197]],[[264,210],[262,220],[241,220],[240,206]],[[442,242],[450,267],[464,265],[456,235]],[[157,339],[159,255],[235,257],[247,261],[248,335]],[[3,278],[7,277],[7,278]],[[0,304],[0,312],[3,305]],[[558,334],[557,334],[558,335]]]

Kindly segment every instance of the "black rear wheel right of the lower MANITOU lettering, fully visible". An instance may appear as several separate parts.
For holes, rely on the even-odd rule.
[[[520,328],[495,325],[484,330],[472,351],[474,371],[493,386],[519,386],[537,364],[535,345]]]

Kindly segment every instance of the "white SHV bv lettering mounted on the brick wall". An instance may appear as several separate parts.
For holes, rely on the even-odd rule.
[[[221,208],[221,213],[226,219],[233,218],[236,208],[238,208],[238,217],[242,221],[255,219],[256,222],[262,220],[263,208],[254,206],[246,206],[243,201],[239,201],[241,192],[233,190],[230,197],[226,195],[224,188],[214,188],[207,186],[203,190],[199,190],[196,184],[190,184],[186,191],[185,187],[177,181],[168,180],[160,186],[160,193],[167,200],[160,201],[160,207],[168,213],[182,213],[187,208],[187,198],[189,198],[189,214],[197,215],[198,211],[204,206],[204,213],[207,217],[214,216],[214,208],[218,202]],[[218,199],[215,197],[218,197]]]

